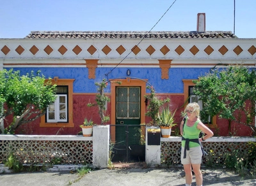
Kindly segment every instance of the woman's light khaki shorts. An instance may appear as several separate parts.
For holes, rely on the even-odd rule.
[[[202,149],[201,147],[193,147],[187,150],[186,158],[183,158],[184,147],[181,148],[181,164],[201,164],[202,162]]]

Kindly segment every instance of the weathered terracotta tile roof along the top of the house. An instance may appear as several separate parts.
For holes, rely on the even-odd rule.
[[[96,31],[96,32],[61,32],[61,31],[32,31],[26,38],[29,39],[49,39],[49,38],[67,38],[67,39],[95,39],[95,38],[122,38],[122,39],[142,39],[142,38],[237,38],[231,31],[207,31],[207,32],[172,32],[172,31],[154,31],[154,32],[127,32],[127,31]]]

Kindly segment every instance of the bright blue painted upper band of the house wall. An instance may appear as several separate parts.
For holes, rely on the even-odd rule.
[[[197,79],[198,76],[209,72],[210,68],[170,68],[168,80],[161,79],[160,68],[96,68],[95,79],[88,79],[88,68],[13,68],[15,71],[19,70],[22,75],[32,70],[35,72],[40,70],[45,78],[58,76],[75,79],[74,93],[97,92],[95,82],[100,82],[103,78],[124,78],[127,76],[127,69],[131,71],[130,77],[147,79],[148,83],[155,88],[156,93],[183,93],[182,79]],[[110,92],[109,86],[106,92]]]

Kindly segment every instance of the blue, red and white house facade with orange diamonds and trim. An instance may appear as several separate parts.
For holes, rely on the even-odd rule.
[[[105,90],[111,99],[106,105],[108,124],[149,122],[147,86],[153,86],[157,96],[170,98],[179,124],[184,103],[189,96],[189,101],[195,100],[192,80],[228,64],[255,68],[255,47],[256,39],[240,39],[224,31],[31,32],[26,38],[0,39],[0,68],[22,74],[40,70],[58,86],[55,105],[17,133],[78,134],[84,118],[100,124],[97,107],[87,106],[95,101],[95,82],[104,78],[122,82],[109,82]],[[213,117],[209,122],[212,131],[228,135],[227,120]],[[5,127],[8,124],[5,120]],[[244,125],[232,124],[232,130],[237,136],[251,134]]]

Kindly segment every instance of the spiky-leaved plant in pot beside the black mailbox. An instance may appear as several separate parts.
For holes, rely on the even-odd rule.
[[[176,110],[172,113],[169,107],[164,108],[161,113],[158,113],[157,124],[161,128],[161,134],[163,138],[169,138],[171,136],[172,127],[177,125],[174,123]]]

